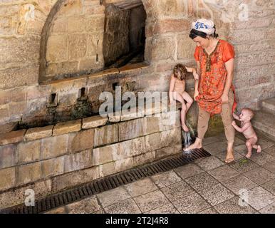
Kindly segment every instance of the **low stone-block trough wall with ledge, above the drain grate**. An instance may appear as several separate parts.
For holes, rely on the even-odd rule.
[[[151,115],[152,114],[152,115]],[[175,122],[171,122],[171,116]],[[0,137],[0,209],[180,153],[180,113],[93,116]]]

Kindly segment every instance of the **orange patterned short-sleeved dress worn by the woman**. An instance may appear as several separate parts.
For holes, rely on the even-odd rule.
[[[219,40],[214,51],[208,53],[200,46],[194,51],[194,58],[199,61],[201,76],[199,78],[199,95],[196,97],[199,107],[208,113],[222,112],[222,93],[227,81],[225,63],[234,58],[234,47],[227,41]],[[234,86],[234,104],[232,113],[237,107]]]

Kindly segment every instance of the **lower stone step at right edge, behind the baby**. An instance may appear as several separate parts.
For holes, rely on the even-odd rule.
[[[255,129],[260,130],[275,139],[275,114],[263,110],[255,112],[252,124]]]

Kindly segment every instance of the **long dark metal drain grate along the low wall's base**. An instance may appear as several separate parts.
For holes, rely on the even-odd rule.
[[[127,185],[144,177],[149,177],[160,172],[172,170],[176,167],[194,162],[194,160],[197,160],[201,157],[209,156],[211,156],[209,152],[204,149],[192,150],[192,153],[190,153],[190,155],[188,156],[177,155],[173,157],[168,157],[164,160],[153,162],[152,164],[138,167],[133,170],[127,170],[115,175],[103,177],[99,180],[94,180],[93,182],[82,185],[80,187],[75,187],[71,190],[67,190],[66,192],[61,192],[56,195],[50,195],[43,199],[38,199],[35,206],[33,207],[26,207],[24,204],[20,204],[15,207],[0,210],[0,213],[37,214],[41,212],[46,212],[50,209],[61,207],[66,204],[71,204],[72,202],[85,199],[100,192],[112,190],[121,185]]]

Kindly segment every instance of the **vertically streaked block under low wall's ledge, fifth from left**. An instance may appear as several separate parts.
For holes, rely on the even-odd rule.
[[[95,147],[118,142],[118,124],[95,128]]]

